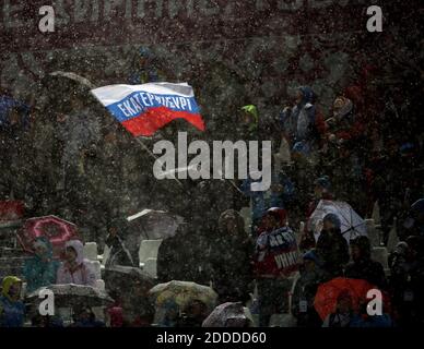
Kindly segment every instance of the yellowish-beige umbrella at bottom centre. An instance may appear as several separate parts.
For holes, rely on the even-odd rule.
[[[191,301],[197,300],[203,302],[212,311],[217,300],[217,294],[212,288],[188,281],[173,280],[160,284],[153,287],[149,293],[155,299],[156,306],[162,308],[170,301],[176,303],[180,310]]]

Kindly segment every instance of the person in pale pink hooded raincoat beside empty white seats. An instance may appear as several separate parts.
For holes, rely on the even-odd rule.
[[[70,240],[64,245],[64,261],[57,273],[57,284],[75,284],[96,287],[96,276],[84,260],[84,245],[80,240]]]

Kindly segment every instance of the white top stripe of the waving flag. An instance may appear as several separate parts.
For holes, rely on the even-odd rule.
[[[125,99],[134,92],[145,92],[154,95],[174,95],[180,97],[195,97],[195,93],[187,83],[149,83],[142,85],[109,85],[92,89],[92,93],[108,106]]]

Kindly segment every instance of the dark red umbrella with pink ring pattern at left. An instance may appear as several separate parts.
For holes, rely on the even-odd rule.
[[[76,226],[56,216],[30,218],[17,233],[20,243],[27,252],[33,252],[34,240],[38,237],[46,237],[51,242],[55,257],[60,257],[67,241],[80,240]]]

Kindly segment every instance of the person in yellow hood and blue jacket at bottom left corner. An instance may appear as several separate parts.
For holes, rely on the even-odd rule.
[[[16,276],[3,278],[0,297],[0,327],[22,327],[25,305],[21,301],[22,280]]]

